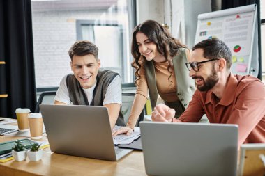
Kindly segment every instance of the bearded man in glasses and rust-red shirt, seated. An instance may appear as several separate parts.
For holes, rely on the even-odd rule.
[[[242,143],[265,143],[265,86],[250,75],[230,72],[232,54],[222,40],[203,40],[192,48],[185,63],[197,90],[185,112],[174,118],[174,109],[158,104],[152,120],[158,122],[199,122],[206,114],[209,122],[239,125]]]

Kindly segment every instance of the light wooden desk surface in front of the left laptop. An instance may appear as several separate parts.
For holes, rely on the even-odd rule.
[[[0,142],[22,137],[0,136]],[[43,137],[45,138],[45,137]],[[0,175],[146,175],[142,152],[131,152],[119,161],[104,161],[55,154],[47,148],[43,159],[34,162],[7,161],[0,163]]]

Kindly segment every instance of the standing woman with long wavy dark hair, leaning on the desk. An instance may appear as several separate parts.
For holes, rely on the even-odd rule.
[[[158,22],[147,20],[136,26],[131,47],[137,90],[128,123],[114,131],[114,136],[132,133],[148,95],[152,109],[159,94],[165,104],[176,111],[175,118],[178,118],[188,107],[196,89],[195,81],[185,67],[190,50]]]

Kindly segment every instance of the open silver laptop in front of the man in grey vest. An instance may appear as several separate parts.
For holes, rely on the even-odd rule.
[[[107,108],[40,104],[54,153],[117,161],[132,150],[114,147]]]

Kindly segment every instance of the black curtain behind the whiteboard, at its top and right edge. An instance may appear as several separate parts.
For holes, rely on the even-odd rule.
[[[264,1],[264,0],[262,0]],[[259,73],[257,77],[262,80],[262,40],[260,29],[260,0],[222,0],[222,10],[227,8],[236,8],[239,6],[247,6],[250,4],[257,4],[257,33],[258,33],[258,46],[259,46]]]

